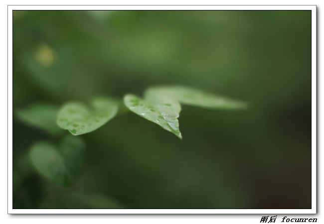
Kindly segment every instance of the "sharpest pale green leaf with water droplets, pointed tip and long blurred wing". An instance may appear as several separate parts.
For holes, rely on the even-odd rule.
[[[128,94],[124,97],[126,107],[132,112],[159,124],[165,130],[182,139],[179,122],[180,104],[210,109],[244,109],[245,103],[233,101],[186,87],[150,88],[144,94],[144,100]]]

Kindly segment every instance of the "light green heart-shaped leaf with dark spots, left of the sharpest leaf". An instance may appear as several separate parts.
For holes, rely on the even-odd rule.
[[[57,114],[57,124],[73,135],[85,134],[104,125],[118,112],[115,101],[98,98],[89,109],[82,103],[67,103]]]

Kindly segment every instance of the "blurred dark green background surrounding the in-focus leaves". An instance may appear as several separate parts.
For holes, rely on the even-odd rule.
[[[182,140],[119,115],[81,135],[70,188],[28,157],[58,139],[14,113],[13,209],[311,209],[311,11],[13,11],[14,111],[156,85],[249,109],[182,106]]]

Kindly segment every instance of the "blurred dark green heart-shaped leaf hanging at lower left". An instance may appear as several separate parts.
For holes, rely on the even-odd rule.
[[[56,146],[48,141],[32,145],[30,160],[36,170],[53,182],[69,187],[83,173],[85,143],[81,137],[66,136]]]

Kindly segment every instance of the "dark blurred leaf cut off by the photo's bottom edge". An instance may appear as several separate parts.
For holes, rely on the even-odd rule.
[[[40,209],[125,209],[125,207],[104,194],[76,192],[43,200]]]

